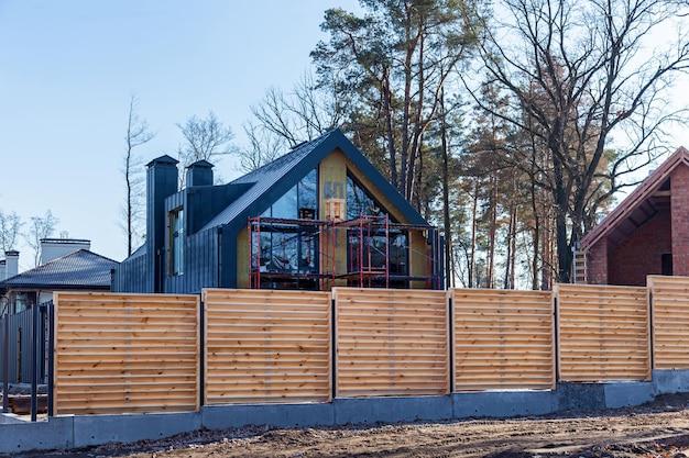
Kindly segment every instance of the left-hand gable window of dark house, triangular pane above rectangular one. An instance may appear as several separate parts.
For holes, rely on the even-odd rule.
[[[317,215],[318,174],[314,169],[261,216],[316,220]],[[309,231],[308,227],[299,227],[288,222],[272,223],[270,226],[261,226],[261,235],[253,233],[252,238],[254,256],[261,253],[260,259],[252,260],[253,266],[255,268],[256,262],[260,262],[261,272],[269,273],[261,278],[261,288],[315,289],[318,286],[315,279],[308,278],[308,275],[318,273],[316,226]],[[298,277],[300,279],[297,280]]]

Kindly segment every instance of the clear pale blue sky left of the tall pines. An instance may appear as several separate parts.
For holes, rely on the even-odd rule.
[[[130,94],[157,134],[146,158],[174,152],[175,123],[208,110],[239,134],[269,87],[288,89],[308,68],[324,11],[356,3],[0,0],[0,209],[51,209],[59,230],[123,258]],[[230,159],[219,169],[237,175]]]

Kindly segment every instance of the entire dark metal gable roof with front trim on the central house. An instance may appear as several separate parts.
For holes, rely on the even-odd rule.
[[[232,183],[253,183],[253,186],[211,219],[201,230],[230,223],[238,226],[244,225],[245,221],[241,220],[260,214],[336,148],[342,150],[373,185],[387,196],[409,223],[427,224],[424,217],[397,192],[342,132],[339,129],[335,129],[232,181]]]

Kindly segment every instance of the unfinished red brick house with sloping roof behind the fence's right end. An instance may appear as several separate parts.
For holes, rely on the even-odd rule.
[[[575,281],[646,284],[689,276],[689,150],[677,149],[582,239]]]

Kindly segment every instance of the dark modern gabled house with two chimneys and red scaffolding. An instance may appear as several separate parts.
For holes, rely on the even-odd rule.
[[[442,288],[442,239],[339,131],[227,185],[206,160],[147,164],[146,242],[114,291]]]

